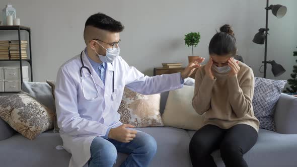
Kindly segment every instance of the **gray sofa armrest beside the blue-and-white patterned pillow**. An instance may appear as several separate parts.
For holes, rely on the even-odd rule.
[[[276,131],[297,134],[297,98],[281,94],[274,111]]]

